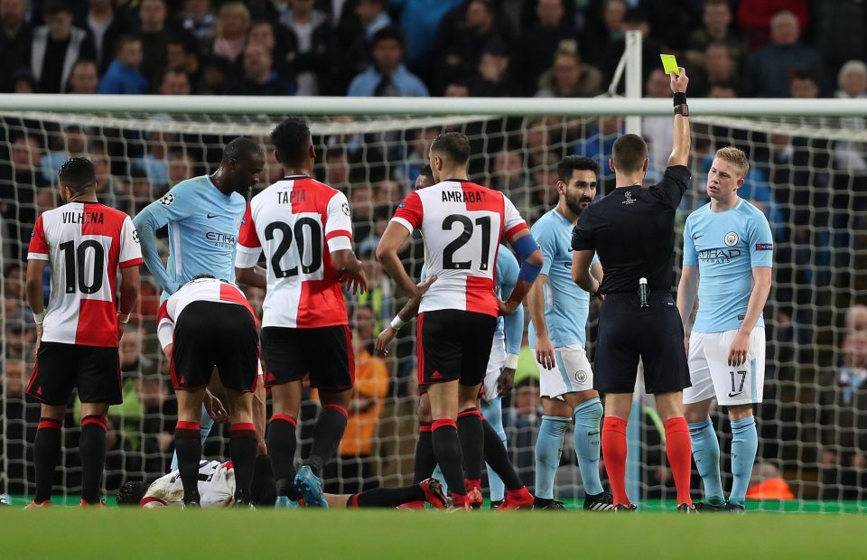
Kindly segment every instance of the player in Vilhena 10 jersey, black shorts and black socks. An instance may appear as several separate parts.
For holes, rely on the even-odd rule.
[[[27,394],[42,403],[30,507],[51,505],[61,427],[73,389],[81,400],[81,505],[100,503],[108,406],[123,402],[117,345],[138,300],[142,264],[132,219],[97,201],[93,163],[73,157],[61,166],[58,180],[66,203],[36,219],[27,255],[26,294],[37,346]],[[42,304],[46,262],[51,266],[47,309]]]

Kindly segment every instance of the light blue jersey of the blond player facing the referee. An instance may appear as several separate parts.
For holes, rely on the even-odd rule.
[[[774,240],[768,219],[739,199],[731,210],[712,212],[710,203],[686,219],[684,265],[698,266],[695,332],[741,327],[752,294],[752,269],[773,266]],[[760,315],[756,326],[764,327]]]

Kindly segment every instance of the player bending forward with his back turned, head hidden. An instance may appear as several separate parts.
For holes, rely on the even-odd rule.
[[[178,397],[174,449],[183,503],[199,506],[200,420],[205,388],[216,367],[231,410],[229,449],[237,485],[235,503],[251,505],[250,483],[256,459],[253,391],[259,360],[256,313],[237,285],[196,275],[160,305],[157,335],[172,365]]]

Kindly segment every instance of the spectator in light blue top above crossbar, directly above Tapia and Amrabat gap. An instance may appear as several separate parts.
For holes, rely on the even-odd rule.
[[[396,27],[380,29],[371,44],[373,66],[350,83],[350,97],[418,97],[426,98],[427,88],[421,79],[406,70],[404,33]]]

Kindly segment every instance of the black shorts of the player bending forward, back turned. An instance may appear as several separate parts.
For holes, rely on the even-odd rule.
[[[174,326],[175,389],[206,387],[216,366],[223,387],[251,392],[256,389],[258,362],[259,335],[247,307],[200,301],[183,308]]]

